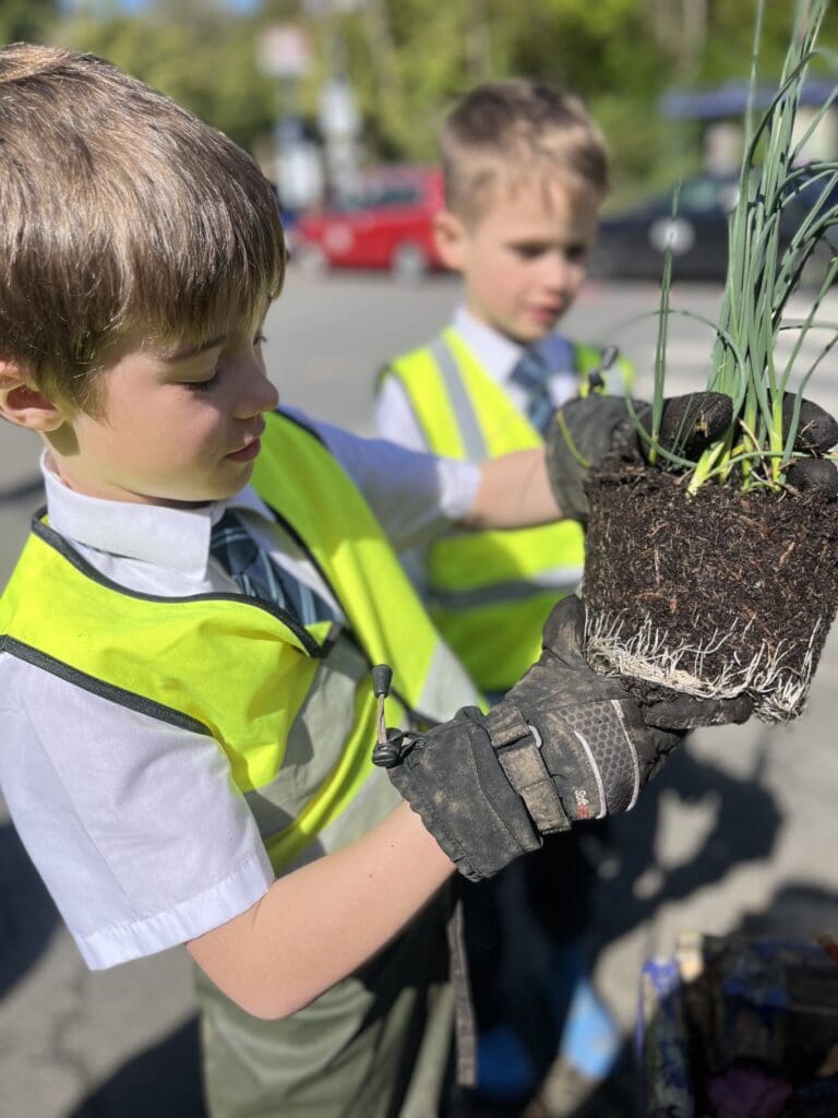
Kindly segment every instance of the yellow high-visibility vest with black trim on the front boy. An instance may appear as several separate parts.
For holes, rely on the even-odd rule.
[[[127,590],[36,517],[0,598],[0,651],[213,737],[279,871],[353,841],[400,802],[371,764],[373,664],[393,670],[391,726],[449,718],[477,695],[316,435],[268,416],[254,486],[325,578],[352,641],[237,594]]]

